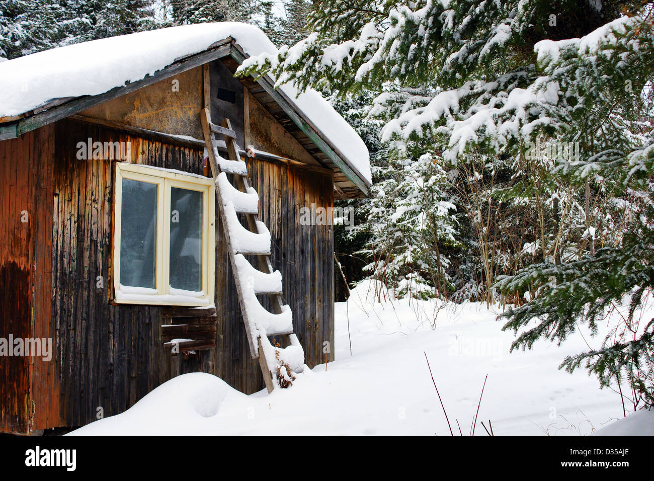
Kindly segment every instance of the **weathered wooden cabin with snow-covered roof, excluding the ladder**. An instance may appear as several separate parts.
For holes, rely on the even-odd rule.
[[[234,76],[273,48],[255,27],[203,24],[0,63],[0,432],[85,425],[187,372],[264,387],[215,215],[205,107],[247,160],[305,363],[334,359],[332,225],[299,212],[366,195],[368,152],[316,92]]]

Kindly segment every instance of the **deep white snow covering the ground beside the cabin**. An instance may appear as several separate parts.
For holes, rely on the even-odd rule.
[[[433,301],[376,302],[370,287],[359,285],[349,302],[336,304],[336,361],[315,366],[290,389],[246,396],[210,374],[186,374],[71,434],[449,436],[425,354],[455,435],[459,425],[470,435],[487,374],[475,435],[487,435],[480,421],[488,427],[489,419],[495,435],[560,436],[588,435],[623,418],[619,394],[583,370],[558,369],[587,342],[597,346],[602,332],[509,353],[513,334],[500,330],[485,304],[435,312]],[[604,434],[634,427],[651,434],[654,410],[636,416]]]

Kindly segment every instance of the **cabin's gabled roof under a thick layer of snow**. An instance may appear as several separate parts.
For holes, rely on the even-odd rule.
[[[120,35],[2,62],[0,140],[216,58],[228,60],[226,63],[235,71],[245,58],[264,52],[274,54],[277,48],[260,29],[238,22],[219,22]],[[276,104],[271,113],[277,120],[305,147],[308,144],[307,150],[321,163],[340,174],[335,175],[336,185],[345,180],[343,186],[356,186],[357,192],[348,189],[350,192],[343,197],[368,193],[368,149],[319,92],[309,89],[298,96],[292,84],[275,89],[274,79],[268,75],[241,82],[255,96],[264,96],[269,104]]]

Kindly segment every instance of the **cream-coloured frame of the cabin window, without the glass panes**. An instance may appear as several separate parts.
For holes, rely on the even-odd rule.
[[[122,215],[122,179],[156,184],[157,232],[156,232],[156,291],[145,293],[145,288],[120,284],[120,231]],[[201,295],[170,292],[170,192],[171,187],[196,190],[203,193],[202,213],[202,291]],[[118,304],[146,304],[156,306],[213,306],[215,289],[215,185],[213,179],[170,169],[137,164],[116,163],[114,202],[114,253],[112,277],[114,279],[114,302]]]

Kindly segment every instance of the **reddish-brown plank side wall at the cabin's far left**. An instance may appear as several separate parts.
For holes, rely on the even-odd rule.
[[[52,126],[0,141],[0,338],[7,340],[52,337],[53,141]],[[54,368],[40,356],[0,356],[0,431],[27,433],[41,422],[46,412],[37,411],[56,393]]]

